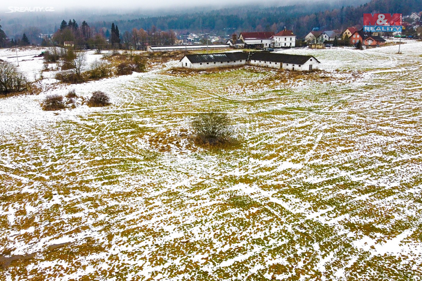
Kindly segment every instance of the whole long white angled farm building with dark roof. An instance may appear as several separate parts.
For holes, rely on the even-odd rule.
[[[320,62],[314,56],[279,54],[270,52],[232,52],[218,54],[185,55],[181,67],[206,69],[212,67],[229,67],[254,65],[276,69],[311,71],[319,69]]]

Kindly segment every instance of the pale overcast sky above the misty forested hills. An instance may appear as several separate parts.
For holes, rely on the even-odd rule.
[[[125,9],[125,8],[171,8],[180,6],[222,6],[222,5],[235,5],[247,3],[268,3],[286,5],[290,1],[281,0],[1,0],[1,12],[10,11],[9,7],[54,7],[55,10],[63,8],[112,8],[112,9]]]

